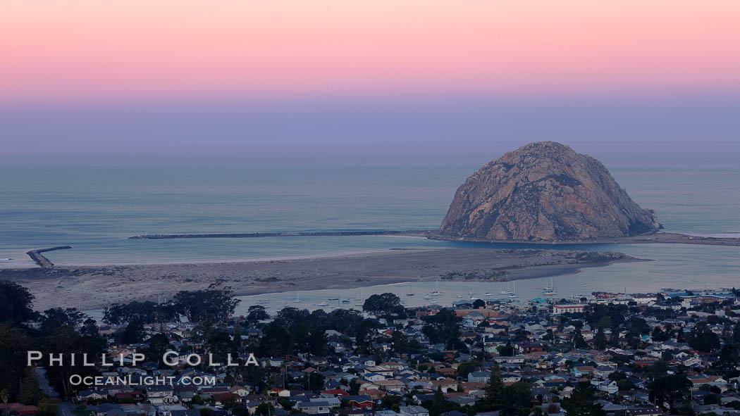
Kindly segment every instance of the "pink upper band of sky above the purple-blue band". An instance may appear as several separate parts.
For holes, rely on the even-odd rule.
[[[736,0],[5,0],[0,102],[738,92]]]

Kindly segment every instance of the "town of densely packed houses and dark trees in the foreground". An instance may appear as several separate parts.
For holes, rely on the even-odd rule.
[[[734,289],[233,316],[211,287],[101,321],[0,289],[5,415],[740,415]]]

